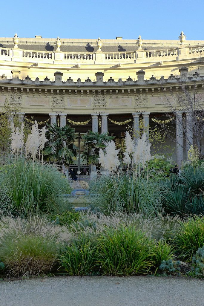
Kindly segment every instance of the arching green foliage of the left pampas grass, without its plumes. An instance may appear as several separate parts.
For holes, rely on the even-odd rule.
[[[59,213],[65,209],[59,196],[69,189],[55,166],[19,159],[1,173],[0,209],[20,216]]]

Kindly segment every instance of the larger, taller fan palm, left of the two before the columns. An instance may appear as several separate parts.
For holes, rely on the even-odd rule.
[[[69,125],[62,127],[57,124],[47,123],[50,143],[45,147],[43,154],[48,162],[54,162],[58,165],[69,166],[76,159],[78,148],[73,144],[76,136],[75,129]]]

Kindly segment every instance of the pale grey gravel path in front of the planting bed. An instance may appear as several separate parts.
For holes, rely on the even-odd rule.
[[[204,281],[55,277],[0,282],[0,306],[203,306]]]

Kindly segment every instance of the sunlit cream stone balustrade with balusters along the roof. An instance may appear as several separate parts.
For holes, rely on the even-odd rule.
[[[162,62],[179,61],[183,58],[200,58],[204,52],[204,45],[192,47],[178,47],[167,50],[137,50],[135,52],[117,52],[100,53],[100,59],[97,52],[91,53],[68,53],[68,52],[48,52],[36,50],[8,49],[0,48],[0,60],[21,62],[39,61],[43,63],[93,63],[93,64],[111,64],[111,63],[139,63],[139,62]]]

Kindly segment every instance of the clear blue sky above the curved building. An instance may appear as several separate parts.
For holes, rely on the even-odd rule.
[[[204,40],[204,1],[1,1],[0,37]]]

